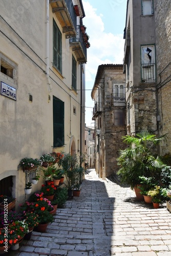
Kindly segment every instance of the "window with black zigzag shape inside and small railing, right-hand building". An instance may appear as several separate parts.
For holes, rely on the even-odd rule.
[[[141,47],[141,74],[142,82],[155,81],[155,47]]]

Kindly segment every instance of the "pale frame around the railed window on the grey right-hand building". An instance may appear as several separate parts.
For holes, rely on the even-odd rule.
[[[144,59],[143,59],[143,54],[144,54],[144,51],[143,51],[143,48],[148,48],[149,50],[152,50],[152,52],[148,52],[147,55],[151,56],[151,59],[149,58],[149,62],[148,63],[144,63]],[[152,49],[150,49],[152,48]],[[148,57],[149,57],[148,56]],[[147,59],[146,59],[147,61]],[[147,70],[148,68],[145,68],[146,67],[153,67],[153,70],[151,71],[150,70],[150,73],[153,74],[153,77],[151,78],[148,78],[146,79],[145,77],[145,70]],[[143,69],[144,67],[144,69]],[[151,68],[150,68],[151,69]],[[148,72],[148,73],[147,73]],[[149,74],[149,69],[147,70],[146,72],[146,75]],[[141,45],[141,81],[142,82],[156,82],[156,49],[155,49],[155,44],[148,44],[148,45]]]

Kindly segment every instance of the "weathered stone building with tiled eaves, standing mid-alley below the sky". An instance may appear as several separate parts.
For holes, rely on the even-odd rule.
[[[118,169],[118,150],[123,147],[121,137],[126,134],[124,84],[123,65],[98,67],[91,96],[95,100],[95,168],[102,179]]]

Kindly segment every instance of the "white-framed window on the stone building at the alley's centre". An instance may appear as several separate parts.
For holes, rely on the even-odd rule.
[[[125,104],[125,89],[123,84],[114,84],[114,105]]]

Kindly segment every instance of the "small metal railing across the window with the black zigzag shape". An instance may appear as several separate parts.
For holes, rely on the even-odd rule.
[[[142,82],[155,81],[155,63],[141,64]]]

